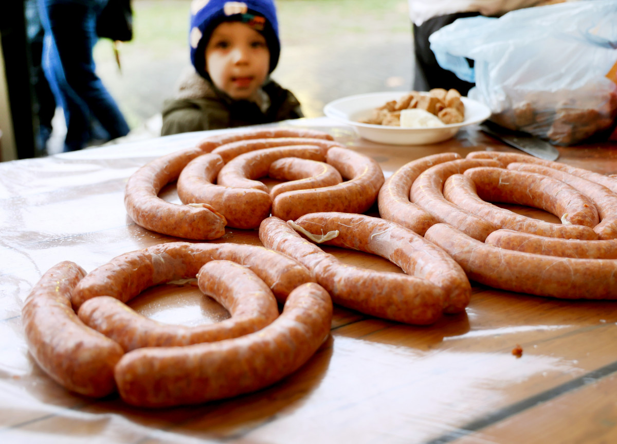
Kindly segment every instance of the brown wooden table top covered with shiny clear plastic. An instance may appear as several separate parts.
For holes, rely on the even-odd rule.
[[[515,151],[477,127],[437,145],[386,146],[329,119],[285,125],[331,133],[388,177],[444,151]],[[205,133],[0,164],[0,442],[36,443],[600,443],[617,442],[617,303],[563,301],[472,282],[464,314],[428,327],[335,306],[331,335],[297,372],[249,395],[199,406],[133,408],[73,395],[36,366],[22,332],[31,287],[57,262],[93,270],[118,254],[176,241],[135,225],[123,188],[138,167]],[[617,172],[617,146],[559,148],[560,161]],[[167,191],[173,200],[173,190]],[[228,228],[216,242],[260,245]],[[325,247],[342,261],[400,271]],[[162,322],[228,316],[194,287],[163,285],[131,301]],[[512,350],[520,345],[523,355]]]

